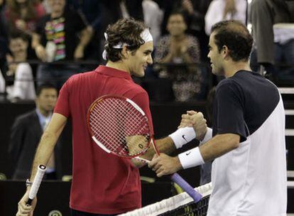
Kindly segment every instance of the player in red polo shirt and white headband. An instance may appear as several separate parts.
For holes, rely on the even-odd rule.
[[[141,162],[106,153],[94,144],[87,131],[89,106],[103,95],[121,95],[138,104],[151,122],[148,94],[131,79],[143,77],[152,64],[153,39],[148,28],[133,18],[121,19],[107,28],[104,58],[106,66],[70,77],[60,90],[53,117],[45,130],[33,163],[31,180],[38,164],[46,164],[68,118],[72,119],[72,216],[117,215],[141,207],[141,182],[138,167]],[[199,132],[206,132],[205,119],[199,114]],[[176,131],[157,141],[159,151],[170,153],[185,144],[177,141],[185,134],[185,142],[195,138],[192,128]],[[150,148],[151,149],[151,148]],[[145,158],[151,159],[153,149]],[[26,206],[28,190],[18,203],[16,215],[30,215],[36,206]]]

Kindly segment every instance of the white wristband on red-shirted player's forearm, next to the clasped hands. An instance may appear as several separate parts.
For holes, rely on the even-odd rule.
[[[173,134],[168,135],[171,139],[173,139],[173,143],[176,148],[181,148],[183,145],[190,142],[192,139],[195,139],[196,134],[192,127],[182,127]]]

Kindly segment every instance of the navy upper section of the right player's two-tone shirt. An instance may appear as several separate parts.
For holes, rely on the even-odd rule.
[[[276,86],[258,73],[245,70],[236,72],[217,85],[213,136],[239,134],[240,142],[245,141],[266,121],[279,99]]]

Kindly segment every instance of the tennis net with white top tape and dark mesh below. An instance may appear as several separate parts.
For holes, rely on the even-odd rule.
[[[160,202],[147,205],[138,210],[126,212],[121,216],[205,216],[207,215],[207,207],[209,196],[212,192],[212,184],[208,183],[195,188],[197,192],[201,193],[202,199],[195,203],[187,193],[180,193],[171,198],[161,200]]]

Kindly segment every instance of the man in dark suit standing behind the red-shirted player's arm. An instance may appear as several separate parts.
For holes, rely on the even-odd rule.
[[[16,117],[11,127],[9,153],[14,161],[13,179],[23,180],[31,175],[33,156],[43,134],[43,130],[51,119],[58,91],[51,84],[43,84],[36,92],[36,109]],[[46,179],[60,178],[59,146],[50,158]]]

